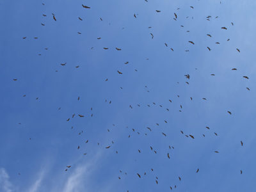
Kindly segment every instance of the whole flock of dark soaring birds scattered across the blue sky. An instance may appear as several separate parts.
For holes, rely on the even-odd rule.
[[[145,2],[148,3],[148,0],[145,0]],[[46,5],[46,3],[42,3],[42,6],[47,6],[47,5]],[[196,9],[196,7],[194,7],[194,6],[189,6],[189,7],[190,7],[191,9],[193,9],[193,10]],[[88,6],[88,5],[86,5],[86,4],[81,4],[81,9],[90,10],[90,9],[93,9],[93,7]],[[175,12],[173,12],[173,18],[172,18],[172,19],[175,20],[175,22],[179,22],[179,10],[180,10],[180,8],[177,8],[177,10],[175,10]],[[157,13],[157,14],[161,14],[161,10],[156,10],[156,13]],[[134,18],[133,18],[133,19],[138,19],[139,16],[140,16],[140,15],[138,15],[138,13],[134,13],[134,15],[133,15]],[[42,14],[42,17],[49,17],[49,15],[43,13],[43,14]],[[51,17],[52,17],[52,20],[53,20],[54,22],[58,22],[58,15],[55,15],[54,13],[52,13]],[[132,15],[131,15],[131,17],[132,17]],[[187,17],[187,18],[188,18],[188,17]],[[77,17],[77,19],[83,21],[83,17],[82,17],[82,16]],[[191,19],[193,19],[193,17],[191,17]],[[212,17],[211,15],[208,15],[207,17],[205,17],[205,19],[206,19],[206,20],[218,19],[218,16],[217,16],[217,17]],[[100,17],[99,20],[100,20],[100,21],[103,21],[104,19],[102,19],[102,17]],[[42,22],[41,25],[42,25],[44,28],[47,28],[47,24],[45,24],[44,22]],[[226,31],[226,30],[228,30],[229,28],[232,28],[232,26],[234,26],[234,22],[230,22],[230,26],[220,26],[220,29]],[[181,27],[181,28],[184,28],[184,26],[182,26],[182,25],[180,25],[180,27]],[[151,29],[151,28],[152,28],[152,26],[149,26],[149,27],[148,27],[148,29]],[[186,33],[189,33],[189,32],[190,32],[189,30],[186,31]],[[82,35],[82,33],[81,33],[80,31],[77,31],[77,34],[78,34],[78,35]],[[154,40],[154,34],[153,34],[152,31],[148,34],[148,36],[149,36],[148,40]],[[205,34],[205,36],[207,36],[208,38],[212,38],[213,35],[212,35],[212,34]],[[23,40],[28,39],[27,36],[22,36],[22,38],[23,38]],[[34,38],[34,39],[37,39],[38,36],[35,36],[35,37],[33,37],[33,38]],[[98,38],[97,38],[97,40],[100,40],[100,39],[101,39],[101,37],[98,37]],[[227,41],[230,41],[230,39],[228,38]],[[191,40],[189,40],[187,43],[188,43],[188,47],[190,46],[190,49],[193,49],[193,45],[196,44],[196,41],[193,40],[193,39],[191,39]],[[164,42],[163,44],[164,44],[165,47],[167,47],[168,49],[170,49],[170,51],[172,51],[172,52],[175,51],[175,47],[170,47],[170,45],[168,45],[167,42]],[[215,44],[216,44],[216,45],[220,45],[221,43],[220,43],[220,42],[215,42]],[[94,47],[91,47],[90,49],[94,49]],[[108,51],[108,50],[111,49],[111,48],[110,48],[110,47],[104,47],[104,46],[103,46],[102,49],[104,49],[105,51]],[[207,47],[205,47],[205,49],[208,50],[208,51],[212,51],[212,47],[211,47],[210,45],[207,46]],[[45,48],[45,50],[48,50],[48,48]],[[116,50],[116,51],[122,51],[122,48],[120,48],[120,47],[115,47],[114,50]],[[184,51],[189,52],[189,49],[186,49],[186,50],[184,50]],[[237,54],[239,54],[239,53],[241,52],[241,50],[239,49],[239,47],[234,47],[234,51],[237,51]],[[38,55],[41,56],[41,54],[38,54]],[[149,59],[146,58],[146,60],[149,60]],[[61,67],[65,67],[66,65],[67,65],[67,62],[65,62],[65,63],[60,63],[60,66],[61,66]],[[124,65],[129,65],[129,61],[125,61],[125,62],[124,62]],[[80,67],[79,65],[76,66],[76,68],[79,68],[79,67]],[[195,70],[196,70],[196,69],[197,69],[197,68],[195,68]],[[135,70],[135,72],[138,72],[137,69],[134,69],[134,70]],[[230,68],[230,70],[236,72],[238,69],[237,69],[237,68]],[[56,70],[56,72],[59,72],[59,70]],[[123,72],[122,72],[122,70],[120,70],[120,69],[116,70],[116,72],[117,72],[118,76],[122,76],[122,75],[123,75]],[[215,74],[211,74],[211,76],[215,76]],[[102,81],[105,81],[105,83],[108,83],[107,81],[109,80],[109,78],[110,78],[110,77],[106,77],[106,78],[104,78]],[[249,79],[249,77],[246,76],[246,75],[242,76],[241,78]],[[191,79],[191,74],[184,74],[184,79],[185,79],[185,83],[189,86],[189,79]],[[19,79],[19,78],[14,78],[13,81],[16,81],[17,83],[19,83],[20,79]],[[179,82],[177,82],[177,83],[179,84]],[[123,87],[120,87],[120,89],[122,90]],[[248,91],[250,91],[250,88],[246,87],[246,89],[247,89]],[[146,90],[146,92],[150,92],[150,90],[148,89],[148,86],[147,86],[147,85],[145,86],[145,90]],[[22,97],[26,97],[26,94],[22,95]],[[180,95],[177,95],[177,97],[179,98]],[[38,100],[38,99],[39,99],[39,97],[36,97],[36,100]],[[191,101],[193,101],[193,99],[194,99],[193,97],[190,97],[190,100],[191,100]],[[80,97],[77,97],[77,101],[79,101],[79,100],[80,100]],[[203,97],[202,100],[207,100],[207,98]],[[111,103],[112,103],[112,101],[109,100],[109,99],[104,100],[104,102],[106,102],[106,104],[111,104]],[[172,108],[172,107],[170,106],[170,104],[173,103],[173,99],[170,98],[170,99],[166,100],[166,102],[168,102],[168,104],[166,104],[166,105],[157,104],[156,102],[152,102],[152,104],[149,104],[149,103],[147,103],[147,104],[141,104],[141,103],[140,103],[140,104],[136,104],[135,106],[134,106],[134,104],[129,104],[129,108],[130,108],[130,109],[134,109],[134,108],[136,108],[136,107],[141,108],[141,107],[143,107],[143,106],[145,106],[145,107],[147,107],[147,108],[150,108],[150,107],[152,107],[152,106],[158,106],[159,108],[163,108],[165,111],[170,111],[170,110],[171,110],[170,108]],[[127,106],[127,107],[128,107],[128,106]],[[177,109],[177,111],[179,111],[180,113],[182,113],[182,109],[183,109],[183,108],[182,108],[182,104],[180,104],[180,105],[179,105],[179,109]],[[61,107],[58,108],[58,110],[61,110]],[[176,109],[175,109],[175,110],[176,110]],[[79,117],[79,118],[84,118],[84,117],[86,118],[86,116],[91,116],[91,117],[92,117],[92,116],[93,116],[93,108],[90,108],[90,111],[91,111],[91,113],[90,113],[89,115],[80,114],[80,113],[72,113],[70,116],[67,116],[67,117],[66,117],[66,121],[67,121],[67,122],[72,122],[76,116]],[[232,111],[230,111],[229,109],[225,109],[225,111],[227,111],[227,114],[228,114],[228,115],[232,115]],[[164,123],[164,124],[168,124],[168,120],[163,120],[163,123]],[[113,124],[113,126],[115,127],[115,124]],[[160,126],[159,122],[156,123],[156,126],[157,126],[157,127]],[[129,127],[126,127],[126,128],[129,129]],[[74,127],[72,126],[71,129],[74,130]],[[205,129],[211,130],[211,128],[210,128],[209,126],[205,126]],[[107,129],[107,131],[110,132],[110,128]],[[140,131],[137,131],[137,130],[135,130],[134,128],[131,129],[131,132],[132,132],[132,133],[136,133],[136,134],[138,134],[138,135],[143,135],[143,134],[144,134],[145,136],[147,136],[148,134],[156,134],[156,131],[158,131],[158,130],[157,130],[157,129],[154,130],[153,127],[145,127],[145,129],[143,129],[143,133],[141,134]],[[154,132],[154,133],[152,133],[152,132]],[[81,135],[81,134],[83,134],[83,133],[84,133],[84,131],[78,132],[79,135]],[[131,138],[132,133],[130,133],[130,134],[128,135],[128,138]],[[161,131],[160,131],[159,133],[162,134],[164,138],[168,137],[168,133],[166,133],[166,132],[161,132]],[[182,136],[185,136],[186,138],[190,138],[190,139],[192,139],[192,140],[196,140],[196,136],[195,136],[194,134],[186,133],[186,132],[183,131],[182,129],[180,129],[180,134],[181,134]],[[213,131],[212,134],[214,134],[215,136],[218,136],[218,133],[217,133],[217,132],[214,132],[214,131]],[[202,134],[202,137],[205,137],[205,134]],[[31,138],[29,138],[29,140],[31,140]],[[88,143],[88,142],[89,142],[89,140],[86,140],[86,141],[85,141],[85,143]],[[241,147],[243,147],[243,145],[244,145],[243,141],[237,141],[237,142],[241,143]],[[115,153],[118,154],[118,150],[116,150],[116,147],[115,147],[115,144],[114,144],[114,143],[115,143],[115,142],[112,140],[112,141],[109,142],[108,145],[105,145],[105,144],[104,144],[103,147],[104,147],[106,150],[109,150],[109,149],[111,149],[111,148],[115,148]],[[99,145],[102,146],[100,142],[97,142],[97,145],[98,145],[98,146],[99,146]],[[173,147],[172,145],[167,146],[167,148],[169,148],[169,150],[173,150],[173,149],[174,149],[174,147]],[[81,145],[78,145],[78,146],[77,146],[77,150],[79,150],[79,149],[81,150]],[[154,147],[152,147],[151,145],[148,146],[148,150],[152,151],[154,154],[157,154],[157,152],[158,152],[157,149],[154,148]],[[214,150],[214,151],[212,151],[212,152],[213,152],[213,153],[216,153],[216,154],[219,154],[219,153],[220,153],[219,150]],[[143,153],[143,150],[142,150],[141,148],[138,148],[138,153],[139,153],[139,154],[142,154],[142,153]],[[86,155],[88,155],[88,154],[87,154],[87,153],[83,153],[83,155],[86,156]],[[166,152],[166,158],[172,159],[172,152]],[[67,167],[64,168],[63,170],[64,170],[65,172],[68,172],[68,171],[70,170],[70,168],[72,168],[72,165],[68,164]],[[119,172],[120,172],[120,175],[118,175],[118,177],[117,177],[116,179],[122,179],[121,174],[123,173],[123,171],[122,171],[122,170],[119,170]],[[154,174],[154,168],[150,168],[150,170],[149,170],[148,172],[152,172],[152,174]],[[141,179],[141,178],[143,178],[143,177],[146,177],[146,175],[148,174],[148,172],[145,171],[145,172],[137,172],[137,173],[132,173],[132,174],[133,174],[133,175],[136,175],[136,177],[138,177],[138,179]],[[200,168],[195,168],[195,173],[199,173],[199,172],[200,172]],[[242,174],[242,173],[243,173],[243,170],[240,170],[240,174]],[[19,173],[19,174],[20,174],[20,173]],[[124,172],[124,174],[127,175],[127,172]],[[155,177],[155,182],[156,182],[156,184],[158,184],[158,183],[159,183],[159,178],[158,178],[158,176],[157,176],[157,175],[154,175],[154,177]],[[181,176],[178,176],[178,177],[177,177],[177,180],[179,180],[179,181],[182,180],[182,177],[181,177]],[[172,184],[172,185],[170,186],[170,189],[175,189],[175,188],[177,188],[177,186],[178,186],[178,184]],[[127,192],[129,192],[129,189],[127,189]]]

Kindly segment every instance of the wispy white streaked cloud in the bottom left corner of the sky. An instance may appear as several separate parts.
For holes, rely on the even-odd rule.
[[[31,180],[28,186],[14,186],[10,177],[4,168],[0,168],[0,191],[2,192],[16,192],[17,189],[28,192],[40,191],[63,191],[63,192],[79,192],[79,191],[94,191],[97,186],[92,186],[91,176],[97,172],[100,163],[102,152],[95,154],[95,156],[84,163],[72,166],[74,170],[68,170],[67,173],[59,173],[52,175],[49,168],[42,168],[38,170],[34,179]],[[49,167],[49,166],[48,166]],[[72,169],[71,168],[71,169]],[[51,174],[51,175],[50,175]],[[54,184],[52,184],[54,180]],[[99,187],[99,186],[98,186]],[[106,186],[105,186],[106,187]],[[106,188],[103,191],[109,191]]]

